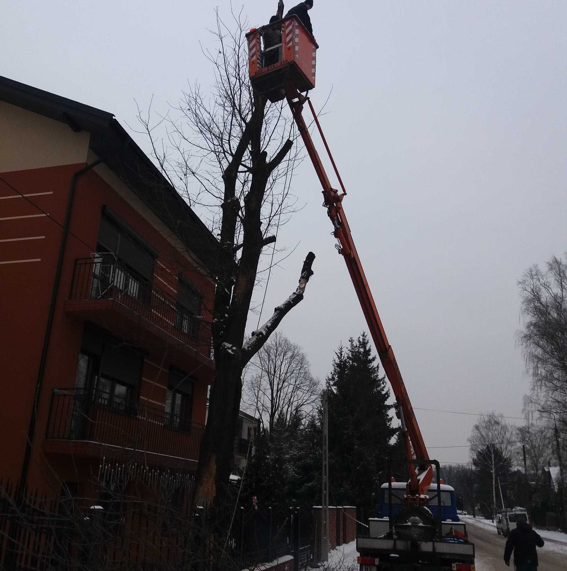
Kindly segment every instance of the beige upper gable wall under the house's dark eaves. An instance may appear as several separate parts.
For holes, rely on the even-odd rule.
[[[90,133],[0,101],[0,172],[84,163]]]

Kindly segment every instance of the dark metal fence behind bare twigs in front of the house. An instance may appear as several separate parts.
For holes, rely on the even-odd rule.
[[[215,558],[240,570],[291,554],[298,571],[312,561],[310,508],[193,513],[154,492],[143,500],[115,490],[48,498],[0,481],[0,569],[190,571]]]

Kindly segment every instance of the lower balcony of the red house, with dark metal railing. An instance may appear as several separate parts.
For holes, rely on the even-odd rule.
[[[89,389],[54,389],[43,451],[77,456],[142,455],[179,467],[199,457],[203,426]],[[190,461],[190,462],[187,462]]]

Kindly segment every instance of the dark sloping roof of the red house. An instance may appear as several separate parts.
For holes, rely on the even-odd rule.
[[[0,100],[91,134],[90,148],[213,275],[218,240],[112,113],[0,76]]]

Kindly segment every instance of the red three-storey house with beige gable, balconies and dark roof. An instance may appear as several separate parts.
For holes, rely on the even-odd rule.
[[[190,481],[217,254],[111,113],[0,77],[0,478]]]

